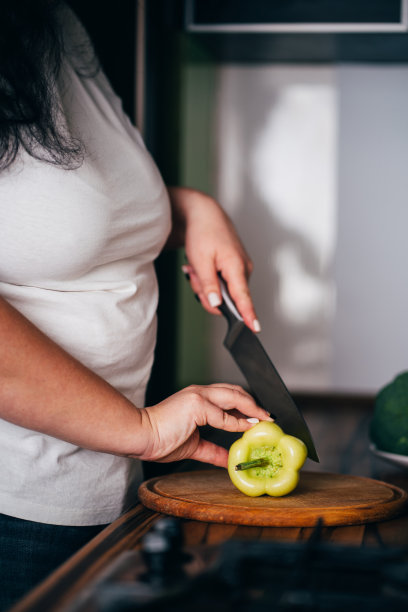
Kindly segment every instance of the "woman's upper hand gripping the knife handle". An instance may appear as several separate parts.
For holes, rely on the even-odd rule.
[[[183,187],[169,187],[168,191],[173,211],[168,245],[184,244],[188,264],[183,271],[192,290],[208,312],[219,314],[221,293],[217,273],[221,272],[245,323],[259,332],[248,287],[253,265],[231,220],[213,198],[200,191]]]

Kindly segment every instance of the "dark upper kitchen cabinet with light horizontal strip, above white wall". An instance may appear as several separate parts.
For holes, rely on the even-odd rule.
[[[406,0],[185,0],[185,30],[227,62],[406,62]]]

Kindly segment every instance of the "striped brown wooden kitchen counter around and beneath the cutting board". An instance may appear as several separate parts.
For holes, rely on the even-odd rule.
[[[368,450],[370,398],[298,398],[313,432],[321,463],[307,469],[368,476],[408,490],[408,471],[377,459]],[[183,464],[187,470],[197,466]],[[208,469],[208,466],[205,466]],[[143,536],[163,515],[137,504],[21,600],[12,612],[61,612],[76,601],[124,551],[140,549]],[[249,527],[182,520],[184,545],[218,545],[231,539],[302,542],[313,528]],[[333,545],[408,550],[408,511],[367,525],[322,527],[319,537]]]

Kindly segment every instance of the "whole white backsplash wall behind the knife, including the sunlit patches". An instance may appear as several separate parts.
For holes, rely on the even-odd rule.
[[[408,369],[408,68],[221,66],[217,196],[255,263],[260,339],[293,390]],[[212,326],[212,378],[243,379]]]

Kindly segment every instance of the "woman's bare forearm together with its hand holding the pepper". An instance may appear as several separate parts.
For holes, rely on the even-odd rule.
[[[84,448],[225,467],[227,451],[200,440],[197,427],[245,431],[245,415],[268,418],[248,393],[228,384],[188,387],[139,410],[1,298],[0,337],[0,417]]]

